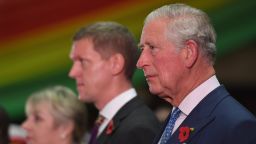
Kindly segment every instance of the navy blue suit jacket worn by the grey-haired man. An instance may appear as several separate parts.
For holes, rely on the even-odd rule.
[[[181,127],[194,129],[183,135],[184,142],[179,139]],[[156,137],[155,144],[161,134]],[[256,144],[256,119],[224,86],[219,86],[192,110],[167,143]]]

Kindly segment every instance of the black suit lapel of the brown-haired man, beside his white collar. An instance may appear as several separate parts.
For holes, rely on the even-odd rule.
[[[101,135],[98,137],[99,143],[106,143],[111,136],[115,135],[115,132],[117,131],[118,127],[122,123],[122,120],[125,119],[132,111],[134,111],[137,107],[141,106],[143,102],[136,96],[132,100],[130,100],[127,104],[125,104],[113,117],[112,121],[112,130],[109,131],[110,123],[108,126],[104,129],[104,131],[101,133]],[[110,122],[111,122],[110,121]]]

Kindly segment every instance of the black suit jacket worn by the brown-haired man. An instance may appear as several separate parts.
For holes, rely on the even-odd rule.
[[[135,97],[114,116],[113,127],[105,128],[99,144],[151,144],[160,130],[154,113]]]

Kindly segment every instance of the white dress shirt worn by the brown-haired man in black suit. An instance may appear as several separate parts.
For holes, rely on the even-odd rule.
[[[104,121],[99,127],[98,136],[107,127],[108,123],[116,115],[116,113],[121,109],[127,102],[137,96],[134,88],[128,89],[123,93],[119,94],[117,97],[112,99],[107,105],[100,111],[100,115],[104,116]]]

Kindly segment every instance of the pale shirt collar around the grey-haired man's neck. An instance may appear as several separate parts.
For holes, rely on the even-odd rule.
[[[198,103],[218,86],[220,86],[220,83],[217,77],[213,75],[190,92],[180,103],[179,109],[188,116]]]

